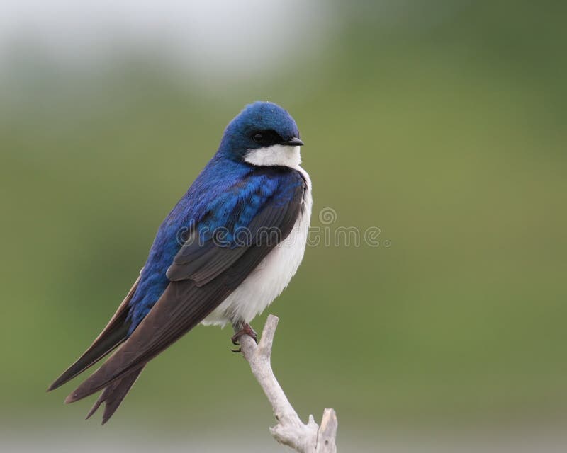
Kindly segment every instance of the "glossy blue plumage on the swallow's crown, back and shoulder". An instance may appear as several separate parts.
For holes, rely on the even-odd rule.
[[[242,161],[248,149],[258,147],[249,139],[253,128],[276,130],[283,139],[299,135],[293,118],[273,103],[247,105],[229,123],[217,153],[157,231],[130,301],[129,335],[169,284],[166,271],[183,245],[184,231],[195,227],[201,239],[207,239],[203,236],[223,228],[228,232],[225,240],[233,241],[234,231],[247,227],[267,200],[286,202],[293,196],[293,188],[301,183],[301,178],[293,174],[296,172],[272,173],[268,177]]]

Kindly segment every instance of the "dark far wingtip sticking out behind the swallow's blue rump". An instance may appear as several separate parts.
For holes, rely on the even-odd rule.
[[[128,336],[128,323],[126,317],[128,316],[128,304],[136,290],[137,283],[140,277],[134,282],[134,285],[120,304],[114,316],[108,321],[103,331],[95,338],[94,342],[89,346],[79,359],[67,368],[60,377],[55,379],[55,382],[49,386],[47,391],[57,389],[65,382],[70,381],[78,374],[81,374],[85,369],[91,367],[96,362],[101,360],[102,357],[111,352],[116,346],[120,345]]]

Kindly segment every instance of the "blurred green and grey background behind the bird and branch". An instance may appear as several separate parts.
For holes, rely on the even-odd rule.
[[[281,318],[273,365],[298,413],[334,407],[343,452],[564,451],[567,6],[201,2],[191,35],[169,3],[129,22],[145,2],[90,19],[8,2],[0,447],[281,451],[229,329],[200,326],[157,357],[104,428],[82,420],[90,401],[62,406],[78,379],[45,394],[225,125],[262,99],[298,122],[313,226],[381,231],[378,247],[308,248],[253,323]],[[160,40],[172,28],[184,44]]]

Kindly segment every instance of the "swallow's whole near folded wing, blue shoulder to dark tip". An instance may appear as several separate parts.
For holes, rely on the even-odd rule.
[[[167,275],[163,270],[167,285],[157,302],[149,309],[131,305],[133,322],[137,308],[140,314],[145,311],[144,316],[120,349],[69,395],[67,402],[137,372],[206,318],[288,236],[303,207],[304,193],[305,181],[300,173],[274,167],[254,169],[213,200],[208,199],[207,209],[199,212],[196,222],[187,224],[190,237],[176,248]],[[170,229],[167,222],[164,224]],[[222,244],[215,241],[219,228],[223,229]],[[260,236],[266,228],[279,231],[279,238],[274,241],[273,236]],[[249,240],[242,242],[238,232],[244,229],[249,231]],[[194,240],[196,237],[199,241]],[[147,263],[144,270],[151,264]],[[137,291],[140,287],[141,283]]]

